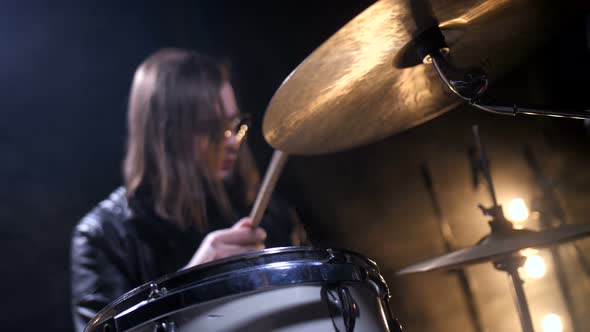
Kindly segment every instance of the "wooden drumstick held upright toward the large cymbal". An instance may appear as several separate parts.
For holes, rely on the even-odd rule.
[[[266,175],[264,175],[264,180],[262,180],[262,186],[260,187],[258,196],[256,196],[256,201],[254,201],[254,207],[252,207],[252,212],[250,213],[252,228],[256,228],[260,224],[262,215],[266,210],[270,196],[277,184],[277,180],[288,156],[289,154],[280,150],[275,150],[273,153]]]

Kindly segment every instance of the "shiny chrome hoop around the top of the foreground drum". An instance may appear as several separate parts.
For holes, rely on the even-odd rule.
[[[381,302],[389,307],[389,290],[370,259],[345,250],[283,247],[210,262],[140,286],[99,312],[86,331],[124,331],[232,295],[341,282],[372,284]]]

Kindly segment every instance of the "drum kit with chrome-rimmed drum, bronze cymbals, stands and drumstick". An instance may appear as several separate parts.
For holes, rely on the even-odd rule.
[[[490,81],[524,61],[556,33],[563,17],[581,8],[555,6],[536,0],[381,0],[370,6],[305,59],[270,101],[263,132],[276,152],[252,210],[254,224],[288,154],[328,154],[366,145],[463,102],[501,114],[590,118],[584,110],[506,107],[486,101]],[[498,29],[510,33],[495,33]],[[480,205],[491,218],[489,234],[455,251],[446,241],[449,253],[397,274],[460,272],[490,262],[509,277],[522,330],[533,331],[518,272],[524,262],[520,252],[590,235],[590,225],[515,229],[498,203],[476,126],[473,134],[492,202],[491,207]],[[423,175],[431,191],[427,167]],[[444,223],[441,234],[445,238]],[[468,293],[467,278],[459,273],[459,279]],[[271,248],[138,287],[99,312],[86,331],[398,331],[389,297],[376,263],[360,254]],[[474,312],[472,316],[476,330],[483,331],[480,319]]]

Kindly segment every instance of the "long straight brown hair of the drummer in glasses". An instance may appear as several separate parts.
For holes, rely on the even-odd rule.
[[[207,226],[207,195],[226,222],[236,221],[222,180],[213,174],[226,125],[220,89],[227,79],[211,58],[182,49],[160,50],[135,72],[123,165],[127,195],[145,188],[155,212],[182,228]],[[208,147],[208,155],[198,155],[196,142]],[[259,175],[245,144],[236,173],[241,196],[251,204]]]

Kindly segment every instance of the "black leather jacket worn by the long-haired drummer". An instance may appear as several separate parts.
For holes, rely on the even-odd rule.
[[[115,190],[82,218],[72,235],[76,331],[82,331],[99,310],[129,290],[184,267],[208,232],[231,226],[215,219],[208,214],[207,232],[182,231],[141,202],[128,202],[124,188]],[[283,200],[273,197],[261,226],[268,234],[266,247],[294,244],[298,224]]]

